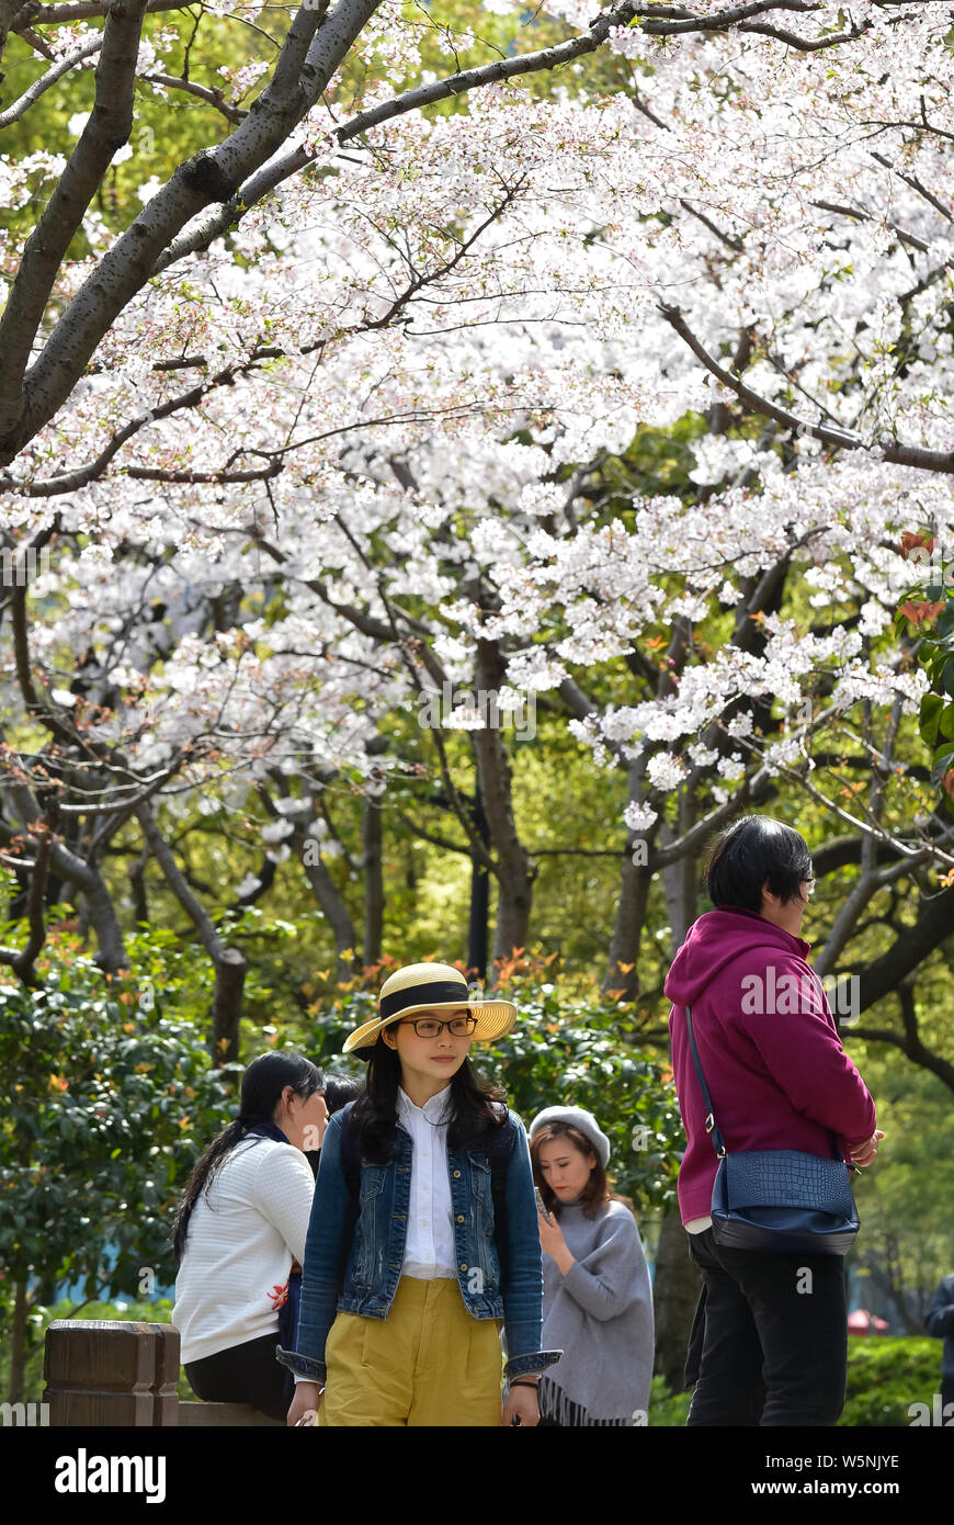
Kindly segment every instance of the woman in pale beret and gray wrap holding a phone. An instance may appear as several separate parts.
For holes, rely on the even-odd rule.
[[[539,1421],[646,1424],[652,1286],[629,1203],[607,1180],[610,1139],[584,1107],[546,1107],[529,1139],[546,1208],[543,1342],[564,1353],[539,1379]]]

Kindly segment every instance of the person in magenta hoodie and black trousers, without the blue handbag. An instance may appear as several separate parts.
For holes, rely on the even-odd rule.
[[[704,883],[716,909],[692,924],[664,985],[687,1141],[678,1202],[689,1254],[703,1270],[687,1424],[835,1424],[847,1371],[843,1260],[715,1243],[718,1159],[686,1006],[730,1153],[792,1148],[831,1157],[835,1142],[846,1161],[870,1165],[884,1135],[806,962],[811,944],[799,935],[814,884],[805,839],[780,820],[744,816],[718,839]]]

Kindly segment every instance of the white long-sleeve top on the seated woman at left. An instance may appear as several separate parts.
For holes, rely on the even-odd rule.
[[[276,1334],[291,1261],[305,1260],[314,1176],[300,1150],[242,1139],[201,1191],[175,1278],[183,1365]]]

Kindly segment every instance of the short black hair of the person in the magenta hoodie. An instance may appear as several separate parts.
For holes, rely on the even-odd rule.
[[[805,837],[771,816],[742,816],[716,840],[704,871],[713,906],[762,909],[762,886],[788,906],[803,880],[814,880]]]

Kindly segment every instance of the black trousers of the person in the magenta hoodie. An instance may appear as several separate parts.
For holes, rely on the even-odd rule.
[[[843,1258],[725,1249],[712,1229],[689,1235],[689,1254],[704,1286],[686,1423],[835,1424],[847,1374]]]

